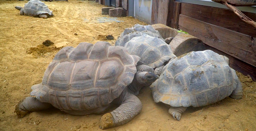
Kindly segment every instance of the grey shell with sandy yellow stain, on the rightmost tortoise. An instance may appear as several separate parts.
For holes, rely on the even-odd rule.
[[[201,107],[230,96],[239,80],[226,60],[211,50],[171,59],[150,86],[154,101],[172,107]]]

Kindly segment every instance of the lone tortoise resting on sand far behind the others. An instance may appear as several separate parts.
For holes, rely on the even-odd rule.
[[[49,16],[54,16],[52,11],[48,8],[45,3],[39,0],[30,0],[24,5],[24,7],[15,6],[15,9],[20,10],[20,15],[29,15],[39,18],[47,19]]]

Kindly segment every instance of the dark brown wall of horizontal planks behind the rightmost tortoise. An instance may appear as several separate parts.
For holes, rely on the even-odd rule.
[[[172,1],[172,0],[171,0]],[[159,7],[158,7],[159,8]],[[207,49],[226,55],[230,67],[256,81],[256,28],[229,9],[174,2],[169,25],[201,39]],[[243,12],[256,21],[256,14]]]

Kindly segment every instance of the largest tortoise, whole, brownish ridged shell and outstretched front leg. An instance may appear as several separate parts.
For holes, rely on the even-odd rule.
[[[113,103],[120,106],[103,115],[99,126],[105,129],[123,125],[142,109],[138,97],[127,88],[150,85],[158,78],[151,72],[137,72],[139,59],[124,47],[108,42],[64,47],[49,64],[42,83],[31,87],[30,95],[35,97],[20,101],[15,112],[24,117],[53,105],[71,115],[98,114]]]

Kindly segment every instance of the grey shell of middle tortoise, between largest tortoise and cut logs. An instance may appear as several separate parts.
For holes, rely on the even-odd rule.
[[[166,44],[162,39],[146,34],[133,37],[125,43],[124,47],[131,55],[140,57],[138,65],[148,65],[152,68],[158,68],[171,58],[176,57],[170,45]]]

